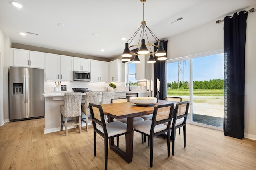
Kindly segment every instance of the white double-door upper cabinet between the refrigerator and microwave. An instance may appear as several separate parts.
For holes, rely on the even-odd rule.
[[[73,57],[45,55],[45,80],[73,81]]]

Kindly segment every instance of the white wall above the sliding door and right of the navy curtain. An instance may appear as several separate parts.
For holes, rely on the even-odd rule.
[[[255,8],[256,5],[251,6]],[[248,8],[250,9],[250,8]],[[223,18],[217,18],[221,20]],[[223,22],[216,20],[168,38],[168,59],[223,49]],[[256,12],[248,14],[245,51],[245,129],[246,138],[256,140]]]

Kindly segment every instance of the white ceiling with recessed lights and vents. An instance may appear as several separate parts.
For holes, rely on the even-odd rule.
[[[12,43],[44,47],[111,59],[120,56],[124,43],[140,27],[140,0],[0,0],[0,29]],[[147,0],[146,25],[160,39],[216,22],[240,10],[250,10],[255,0]],[[184,19],[171,24],[173,20]],[[58,26],[58,23],[64,26]],[[31,32],[21,36],[19,32]],[[38,34],[38,35],[36,35]],[[94,36],[92,34],[97,34]],[[121,37],[126,40],[121,40]],[[152,43],[154,42],[148,36]],[[139,37],[136,44],[139,41]],[[104,51],[100,51],[104,49]]]

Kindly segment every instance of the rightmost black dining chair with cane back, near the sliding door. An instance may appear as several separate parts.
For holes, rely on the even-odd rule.
[[[186,147],[186,121],[188,117],[188,108],[189,108],[189,101],[178,102],[175,106],[174,116],[172,118],[172,123],[170,126],[171,140],[172,140],[172,155],[174,155],[174,143],[175,143],[175,135],[176,135],[177,128],[183,127],[184,147]],[[167,123],[164,123],[164,124],[167,125]]]

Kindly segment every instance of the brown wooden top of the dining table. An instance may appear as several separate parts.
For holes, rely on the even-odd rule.
[[[126,117],[137,117],[141,115],[151,114],[154,111],[155,105],[164,105],[168,103],[174,103],[174,105],[176,105],[177,102],[158,100],[158,103],[147,106],[139,106],[131,102],[103,104],[101,106],[105,115],[116,119],[122,119]]]

